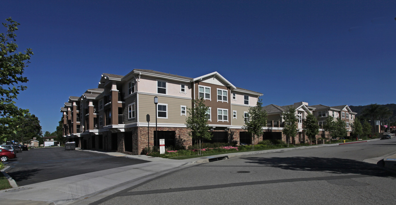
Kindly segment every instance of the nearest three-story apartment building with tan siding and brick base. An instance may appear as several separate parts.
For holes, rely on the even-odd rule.
[[[98,89],[70,97],[61,109],[64,135],[81,148],[128,154],[158,146],[159,139],[168,147],[187,147],[194,143],[185,126],[187,109],[202,97],[209,106],[210,142],[249,140],[242,126],[261,95],[235,87],[218,72],[197,78],[142,69],[125,76],[103,73]]]

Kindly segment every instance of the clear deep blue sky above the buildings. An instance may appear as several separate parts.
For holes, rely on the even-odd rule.
[[[280,106],[395,103],[396,1],[9,0],[34,55],[17,106],[55,131],[69,96],[102,73],[217,71]],[[0,28],[0,32],[5,32]]]

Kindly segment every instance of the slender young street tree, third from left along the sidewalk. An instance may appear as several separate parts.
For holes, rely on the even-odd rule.
[[[297,115],[296,108],[293,106],[287,107],[287,110],[283,112],[283,134],[286,136],[287,146],[289,146],[290,137],[297,135]]]

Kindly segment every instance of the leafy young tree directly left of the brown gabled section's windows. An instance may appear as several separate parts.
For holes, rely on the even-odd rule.
[[[188,135],[192,139],[197,140],[211,139],[212,135],[208,132],[209,125],[207,117],[209,107],[205,105],[205,100],[202,97],[197,100],[193,99],[192,104],[193,106],[191,108],[187,108],[188,117],[185,123],[187,128],[190,129]]]

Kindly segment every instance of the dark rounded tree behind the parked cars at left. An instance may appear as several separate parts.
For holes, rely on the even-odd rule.
[[[25,143],[29,140],[32,140],[34,137],[38,139],[41,137],[41,125],[38,118],[30,113],[26,114],[24,117],[17,117],[15,120],[19,130],[15,134],[15,139],[20,143]]]

